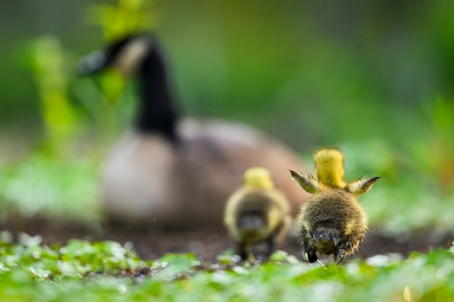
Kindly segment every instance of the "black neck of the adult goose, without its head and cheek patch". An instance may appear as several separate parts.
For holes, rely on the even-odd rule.
[[[145,56],[138,74],[140,105],[136,127],[141,133],[161,133],[176,140],[177,111],[173,104],[166,65],[157,45]]]

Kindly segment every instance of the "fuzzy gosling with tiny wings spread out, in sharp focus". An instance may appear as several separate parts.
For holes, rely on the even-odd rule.
[[[312,194],[301,206],[299,237],[309,262],[317,252],[334,255],[339,264],[358,249],[367,231],[367,217],[356,197],[363,195],[379,177],[344,181],[344,156],[335,149],[314,155],[316,178],[291,171],[298,185]]]

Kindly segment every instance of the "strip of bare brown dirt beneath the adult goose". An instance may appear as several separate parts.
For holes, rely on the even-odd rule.
[[[200,259],[215,261],[216,256],[227,249],[235,248],[225,229],[196,229],[166,231],[156,229],[124,229],[120,227],[93,228],[76,222],[55,218],[10,218],[0,228],[13,234],[26,232],[40,235],[46,244],[64,244],[68,239],[113,240],[120,243],[131,241],[143,259],[156,259],[166,252],[195,252]],[[354,257],[369,257],[376,254],[397,252],[408,255],[412,251],[425,252],[431,248],[450,246],[454,234],[434,234],[421,230],[411,236],[395,238],[372,229]],[[258,252],[260,252],[260,246]],[[278,247],[302,259],[301,248],[291,237]]]

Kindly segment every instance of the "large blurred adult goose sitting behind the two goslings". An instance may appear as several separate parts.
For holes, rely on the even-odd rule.
[[[269,169],[291,200],[305,195],[286,181],[285,167],[300,167],[287,146],[241,123],[180,119],[156,38],[128,36],[82,59],[80,72],[107,67],[137,75],[140,107],[133,130],[105,164],[103,204],[108,217],[187,229],[222,226],[224,204],[251,166]]]

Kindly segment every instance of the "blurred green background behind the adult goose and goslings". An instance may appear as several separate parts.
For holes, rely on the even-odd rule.
[[[454,227],[454,2],[0,1],[1,219],[97,223],[105,153],[133,81],[81,78],[80,56],[154,29],[184,114],[249,123],[312,167],[337,146],[372,227]],[[91,209],[91,211],[87,211]]]

